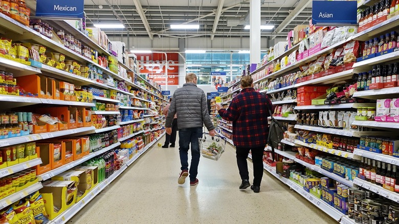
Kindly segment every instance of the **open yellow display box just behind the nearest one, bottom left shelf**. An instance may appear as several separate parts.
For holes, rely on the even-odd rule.
[[[84,192],[81,195],[77,195],[75,202],[78,202],[87,192],[92,188],[92,176],[91,173],[85,170],[68,170],[51,178],[52,181],[73,181],[78,191]]]

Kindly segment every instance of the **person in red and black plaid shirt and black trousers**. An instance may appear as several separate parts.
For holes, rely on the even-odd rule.
[[[216,104],[221,118],[233,122],[233,143],[236,147],[238,170],[241,176],[239,189],[251,186],[249,182],[248,153],[251,150],[254,182],[251,189],[258,193],[263,176],[263,150],[267,144],[272,102],[267,95],[256,92],[251,76],[241,78],[241,93],[233,98],[229,108]]]

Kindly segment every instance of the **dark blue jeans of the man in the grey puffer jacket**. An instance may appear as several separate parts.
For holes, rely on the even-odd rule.
[[[200,163],[198,138],[202,137],[202,127],[179,128],[179,152],[182,170],[188,170],[188,149],[191,143],[190,181],[195,181]]]

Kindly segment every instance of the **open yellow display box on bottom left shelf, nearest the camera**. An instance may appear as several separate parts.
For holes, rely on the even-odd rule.
[[[42,185],[39,192],[45,200],[45,209],[50,220],[75,205],[77,188],[74,181],[46,181]],[[55,211],[54,207],[59,210]]]

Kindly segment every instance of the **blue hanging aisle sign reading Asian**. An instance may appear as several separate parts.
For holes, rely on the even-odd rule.
[[[312,24],[317,26],[356,25],[357,1],[313,1]]]

